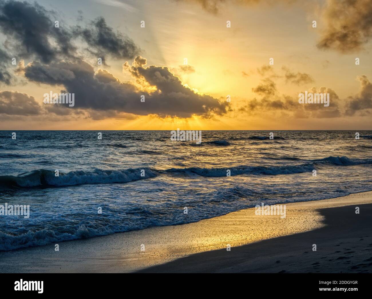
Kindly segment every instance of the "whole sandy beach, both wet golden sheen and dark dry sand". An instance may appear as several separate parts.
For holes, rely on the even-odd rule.
[[[283,219],[254,211],[0,252],[0,272],[372,271],[372,191],[287,203]]]

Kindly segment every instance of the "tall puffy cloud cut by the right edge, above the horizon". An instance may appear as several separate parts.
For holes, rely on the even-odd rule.
[[[352,116],[355,112],[372,108],[372,84],[367,76],[357,76],[360,82],[360,92],[347,98],[345,115]]]

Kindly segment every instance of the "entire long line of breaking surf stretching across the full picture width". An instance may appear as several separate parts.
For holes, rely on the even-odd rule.
[[[284,157],[291,160],[298,158]],[[55,176],[55,172],[47,169],[39,169],[23,174],[3,175],[0,176],[0,186],[16,186],[16,187],[37,187],[37,186],[71,186],[80,184],[111,184],[111,183],[126,183],[147,179],[157,176],[161,173],[177,174],[183,173],[186,175],[201,175],[206,177],[222,177],[230,175],[253,174],[253,175],[285,175],[298,174],[303,172],[311,172],[319,165],[336,165],[350,166],[372,164],[372,159],[350,159],[345,156],[329,156],[323,159],[308,160],[307,163],[297,165],[279,165],[279,166],[232,166],[222,168],[170,168],[157,170],[151,168],[129,168],[125,170],[101,170],[94,171],[71,171],[67,173],[60,172],[59,176]],[[144,170],[144,176],[141,176],[141,170]]]

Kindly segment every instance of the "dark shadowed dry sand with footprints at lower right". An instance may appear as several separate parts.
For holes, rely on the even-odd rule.
[[[231,252],[201,252],[137,273],[372,273],[372,204],[358,206],[363,215],[356,216],[355,205],[320,209],[325,226],[319,229]]]

